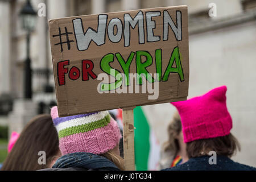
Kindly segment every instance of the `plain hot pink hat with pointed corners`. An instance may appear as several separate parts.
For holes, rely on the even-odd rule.
[[[187,101],[171,102],[179,111],[184,142],[230,134],[232,118],[226,107],[226,86]]]

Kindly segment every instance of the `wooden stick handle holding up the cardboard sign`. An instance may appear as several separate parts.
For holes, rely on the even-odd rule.
[[[125,171],[135,170],[133,109],[123,108],[123,156]]]

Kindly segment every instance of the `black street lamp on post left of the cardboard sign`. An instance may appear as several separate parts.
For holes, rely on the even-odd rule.
[[[24,64],[24,98],[32,98],[32,71],[30,61],[30,33],[36,26],[36,12],[33,10],[30,0],[22,7],[20,18],[22,27],[27,31],[27,59]]]

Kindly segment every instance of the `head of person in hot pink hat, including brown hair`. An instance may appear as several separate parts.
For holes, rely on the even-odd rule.
[[[230,134],[232,118],[226,107],[226,90],[226,86],[220,86],[203,96],[172,102],[181,117],[189,158],[208,155],[209,151],[232,156],[240,149]]]

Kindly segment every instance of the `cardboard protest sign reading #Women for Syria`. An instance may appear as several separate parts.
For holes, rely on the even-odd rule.
[[[185,100],[187,6],[49,20],[60,117]]]

